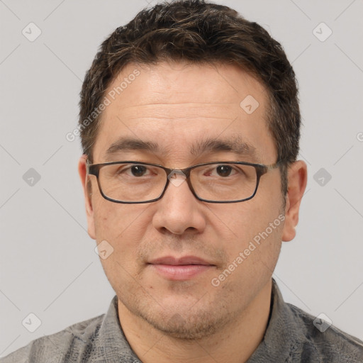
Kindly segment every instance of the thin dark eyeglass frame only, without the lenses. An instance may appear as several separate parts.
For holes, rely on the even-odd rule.
[[[170,169],[168,167],[164,167],[160,164],[152,164],[150,162],[135,162],[135,161],[124,161],[124,162],[104,162],[101,164],[86,164],[86,168],[87,168],[87,174],[89,175],[94,175],[97,179],[97,184],[99,186],[99,191],[101,193],[101,196],[104,197],[104,199],[106,199],[107,201],[112,201],[113,203],[123,203],[123,204],[140,204],[140,203],[152,203],[154,201],[159,201],[160,199],[162,199],[162,197],[165,194],[165,191],[167,190],[167,187],[169,185],[169,175],[172,174],[172,172],[182,172],[185,177],[186,177],[186,182],[188,183],[189,189],[191,190],[191,193],[196,197],[196,199],[198,199],[199,201],[205,201],[206,203],[240,203],[242,201],[249,201],[250,199],[252,199],[256,193],[257,193],[257,188],[259,186],[259,179],[262,177],[262,175],[266,174],[269,170],[272,169],[276,169],[277,167],[279,167],[279,165],[283,162],[283,160],[278,160],[277,162],[275,162],[274,164],[254,164],[251,162],[203,162],[201,164],[195,164],[195,165],[191,165],[190,167],[186,167],[185,169]],[[160,169],[163,169],[164,172],[166,172],[167,174],[167,182],[164,186],[164,189],[162,191],[162,194],[160,194],[160,196],[158,196],[155,199],[150,199],[150,201],[118,201],[117,199],[112,199],[108,196],[106,196],[106,194],[104,194],[104,191],[102,191],[101,188],[101,183],[99,181],[99,171],[102,167],[105,167],[107,165],[114,165],[114,164],[142,164],[142,165],[150,165],[152,167],[160,167]],[[238,201],[211,201],[208,199],[203,199],[200,198],[199,196],[196,195],[196,192],[194,191],[193,186],[191,185],[191,181],[190,181],[190,172],[192,169],[196,168],[196,167],[201,167],[203,165],[213,165],[213,164],[238,164],[238,165],[249,165],[251,167],[255,167],[256,169],[256,174],[257,174],[257,180],[256,180],[256,187],[255,187],[255,191],[253,192],[252,196],[249,196],[248,198],[245,199],[240,199]]]

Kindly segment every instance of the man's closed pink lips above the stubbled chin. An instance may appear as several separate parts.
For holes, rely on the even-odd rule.
[[[172,281],[189,280],[216,267],[196,256],[160,257],[147,263],[157,274]]]

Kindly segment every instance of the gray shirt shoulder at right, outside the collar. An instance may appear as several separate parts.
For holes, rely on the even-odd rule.
[[[296,347],[296,354],[304,357],[303,362],[363,362],[362,340],[343,332],[334,325],[315,320],[313,315],[290,303],[286,303],[286,306],[294,315],[296,325],[300,325],[299,329],[303,330],[301,344]],[[314,320],[315,325],[321,326],[320,329],[316,328]]]

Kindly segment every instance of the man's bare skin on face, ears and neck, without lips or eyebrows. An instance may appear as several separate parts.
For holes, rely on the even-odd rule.
[[[93,163],[135,160],[182,169],[199,162],[247,161],[273,164],[277,150],[265,118],[267,93],[255,78],[233,65],[128,65],[109,86],[118,86],[134,69],[140,75],[107,106],[94,144]],[[259,107],[247,114],[240,102],[252,95]],[[152,140],[161,154],[133,150],[106,156],[121,136]],[[254,145],[257,159],[243,160],[230,151],[191,155],[189,147],[206,137],[240,135]],[[281,241],[295,237],[298,211],[306,188],[306,163],[289,167],[284,206],[279,169],[264,174],[257,194],[242,203],[197,200],[186,182],[169,184],[160,201],[112,203],[104,199],[96,177],[86,176],[86,156],[79,160],[88,233],[106,240],[113,253],[101,259],[118,296],[123,332],[145,363],[245,362],[267,328],[272,272]],[[91,194],[87,192],[87,179]],[[280,214],[284,222],[228,277],[218,277],[249,242]],[[185,281],[160,275],[152,259],[194,255],[209,264]]]

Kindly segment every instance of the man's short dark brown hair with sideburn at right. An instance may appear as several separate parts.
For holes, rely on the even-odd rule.
[[[79,101],[82,148],[89,160],[101,117],[94,110],[113,79],[132,62],[161,60],[238,65],[262,82],[269,95],[267,126],[277,158],[284,160],[281,189],[286,196],[287,167],[296,161],[301,125],[294,70],[280,43],[264,28],[228,6],[203,0],[177,0],[144,9],[101,44],[86,72]]]

